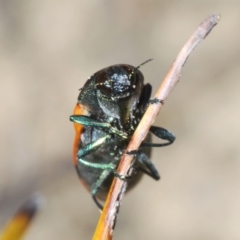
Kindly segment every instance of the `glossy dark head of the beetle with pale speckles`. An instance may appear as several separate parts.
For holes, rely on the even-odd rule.
[[[101,71],[96,78],[96,88],[108,98],[127,97],[136,87],[135,73],[127,66],[112,66]]]

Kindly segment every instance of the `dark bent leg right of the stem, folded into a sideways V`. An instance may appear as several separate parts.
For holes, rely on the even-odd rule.
[[[143,142],[141,144],[142,147],[164,147],[164,146],[168,146],[168,145],[172,144],[175,140],[175,136],[172,133],[170,133],[168,130],[166,130],[165,128],[151,126],[150,132],[152,132],[158,138],[167,140],[168,142],[167,143]]]

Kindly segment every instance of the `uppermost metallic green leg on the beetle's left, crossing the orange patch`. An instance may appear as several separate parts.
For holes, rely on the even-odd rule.
[[[115,135],[118,135],[122,138],[127,138],[128,137],[127,133],[125,133],[123,131],[119,131],[117,128],[112,127],[110,123],[108,123],[108,122],[98,122],[98,121],[96,121],[95,119],[93,119],[89,116],[72,115],[72,116],[70,116],[70,120],[72,122],[79,123],[79,124],[82,124],[84,126],[106,129],[108,132],[113,133]]]

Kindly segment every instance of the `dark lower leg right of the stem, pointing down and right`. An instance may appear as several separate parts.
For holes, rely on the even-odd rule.
[[[158,170],[155,168],[154,164],[149,160],[145,153],[139,152],[137,155],[137,161],[138,163],[140,163],[140,165],[143,165],[143,167],[139,166],[137,167],[137,169],[144,172],[155,180],[160,179]]]

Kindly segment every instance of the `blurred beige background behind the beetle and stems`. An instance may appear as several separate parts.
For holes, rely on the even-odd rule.
[[[69,115],[86,79],[116,63],[156,90],[198,24],[219,25],[188,59],[155,125],[161,174],[123,201],[114,239],[240,239],[240,2],[0,1],[0,226],[33,192],[26,240],[91,239],[99,212],[72,166]]]

